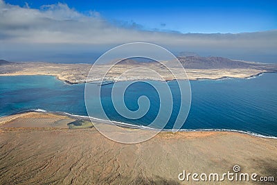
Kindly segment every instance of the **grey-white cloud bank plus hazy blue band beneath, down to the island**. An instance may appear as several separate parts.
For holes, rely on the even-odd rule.
[[[244,60],[256,56],[258,61],[266,56],[269,62],[277,59],[277,30],[236,34],[142,30],[135,23],[110,23],[96,11],[84,15],[64,3],[33,9],[0,0],[0,28],[0,55],[8,60],[88,62],[88,53],[102,53],[128,42],[151,42],[172,52],[194,51]]]

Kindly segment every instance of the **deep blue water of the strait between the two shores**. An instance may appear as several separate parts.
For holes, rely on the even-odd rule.
[[[172,81],[168,85],[172,89],[174,107],[166,129],[175,123],[179,111],[177,83]],[[242,130],[277,136],[277,73],[251,79],[190,81],[190,85],[192,104],[182,128]],[[139,96],[150,99],[150,111],[138,120],[128,120],[116,113],[111,103],[112,87],[113,84],[103,85],[101,94],[105,112],[112,120],[148,125],[157,116],[159,98],[149,85],[136,83],[125,94],[125,103],[131,110],[138,109]],[[87,116],[84,84],[66,85],[53,76],[0,76],[0,116],[30,109]],[[98,117],[97,112],[95,117]]]

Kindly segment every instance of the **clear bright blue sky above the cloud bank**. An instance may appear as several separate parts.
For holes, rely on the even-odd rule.
[[[30,8],[66,3],[83,14],[90,11],[111,24],[180,33],[243,33],[277,28],[277,1],[39,1],[6,0]]]

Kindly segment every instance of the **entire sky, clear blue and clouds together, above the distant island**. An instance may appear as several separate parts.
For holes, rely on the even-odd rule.
[[[0,58],[91,62],[118,44],[277,62],[277,1],[0,0]],[[78,61],[77,61],[78,60]]]

